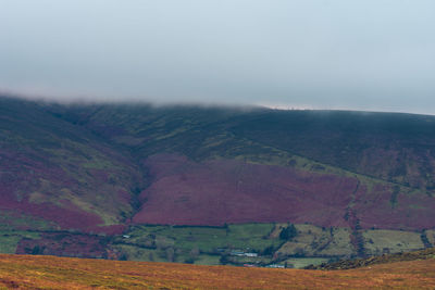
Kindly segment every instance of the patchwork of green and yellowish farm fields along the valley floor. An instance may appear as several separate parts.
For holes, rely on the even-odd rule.
[[[283,239],[279,234],[287,227],[289,224],[241,224],[224,227],[139,225],[132,226],[124,235],[100,238],[107,240],[107,249],[115,253],[115,259],[130,261],[239,266],[277,264],[301,268],[310,264],[319,265],[357,256],[349,228],[321,228],[301,224],[295,225],[295,237]],[[44,232],[47,231],[4,228],[0,230],[0,253],[15,253],[22,239],[32,239],[37,245]],[[369,255],[424,249],[421,232],[385,229],[361,232],[363,247]],[[432,241],[433,231],[427,230],[425,234]],[[75,235],[77,238],[86,236]],[[45,247],[49,244],[49,237],[45,236]]]

